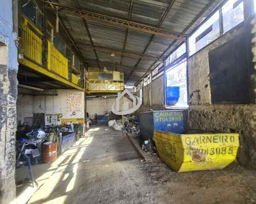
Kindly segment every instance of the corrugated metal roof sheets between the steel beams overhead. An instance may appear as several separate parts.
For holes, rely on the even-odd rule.
[[[171,0],[134,0],[130,20],[153,27],[160,27],[168,31],[189,34],[210,12],[212,12],[212,10],[214,10],[216,5],[221,2],[221,0],[213,0],[212,5],[208,7],[210,1],[211,0],[175,0],[168,14],[165,16],[164,14],[167,12],[169,3],[172,2]],[[57,2],[61,5],[74,8],[76,8],[77,2],[82,10],[126,20],[128,20],[130,11],[130,0],[58,0]],[[205,7],[208,7],[208,10],[205,10],[202,16],[191,24]],[[165,16],[164,19],[163,16]],[[173,41],[158,36],[153,37],[151,34],[137,31],[128,31],[128,29],[113,27],[109,24],[104,24],[104,22],[94,20],[86,20],[85,22],[88,27],[86,28],[84,20],[80,17],[66,14],[61,14],[60,17],[64,26],[77,44],[91,44],[92,40],[94,46],[123,50],[126,40],[126,52],[150,54],[158,57],[166,56],[180,44],[179,41]],[[162,22],[161,24],[160,21]],[[128,31],[127,39],[126,31]],[[91,36],[91,40],[89,35]],[[150,39],[152,39],[152,41],[150,41]],[[100,52],[99,50],[97,50],[95,54],[94,48],[81,46],[78,48],[83,54],[83,58],[92,60],[88,61],[91,67],[98,67],[98,63],[95,61],[96,54],[99,61],[106,61],[106,64],[100,63],[100,67],[115,70],[115,64],[122,62],[122,65],[126,66],[126,68],[119,67],[118,70],[124,71],[125,78],[128,80],[127,84],[130,85],[137,82],[137,79],[143,76],[145,71],[141,71],[141,69],[149,69],[156,62],[155,59],[139,59],[128,56],[124,56],[122,59],[120,55],[113,57],[111,54]],[[136,65],[137,68],[140,69],[132,69],[132,67]]]

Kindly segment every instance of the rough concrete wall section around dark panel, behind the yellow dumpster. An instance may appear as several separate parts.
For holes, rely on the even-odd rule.
[[[190,56],[188,62],[190,93],[188,127],[207,131],[240,133],[238,161],[246,167],[256,169],[256,105],[213,105],[211,102],[208,53],[238,35],[247,36],[248,30],[240,27],[240,29],[226,33]]]

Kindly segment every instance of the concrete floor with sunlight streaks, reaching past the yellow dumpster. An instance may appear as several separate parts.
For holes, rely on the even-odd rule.
[[[255,203],[256,173],[233,164],[175,173],[154,157],[143,162],[128,138],[94,127],[57,160],[29,203]],[[56,165],[56,164],[55,164]]]

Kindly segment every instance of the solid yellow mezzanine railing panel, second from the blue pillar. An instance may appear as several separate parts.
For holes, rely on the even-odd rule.
[[[47,68],[68,80],[68,58],[63,56],[55,46],[48,41],[48,62]]]

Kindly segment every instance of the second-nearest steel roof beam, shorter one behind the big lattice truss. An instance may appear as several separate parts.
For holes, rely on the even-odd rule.
[[[154,55],[139,54],[137,52],[126,52],[124,50],[114,50],[114,49],[110,49],[110,48],[94,46],[94,45],[89,45],[89,44],[72,44],[72,46],[81,47],[81,48],[92,48],[92,49],[100,51],[100,52],[109,53],[109,54],[114,53],[117,55],[122,55],[122,56],[124,55],[124,56],[132,57],[132,58],[142,58],[143,57],[143,58],[158,59],[158,56],[154,56]]]

